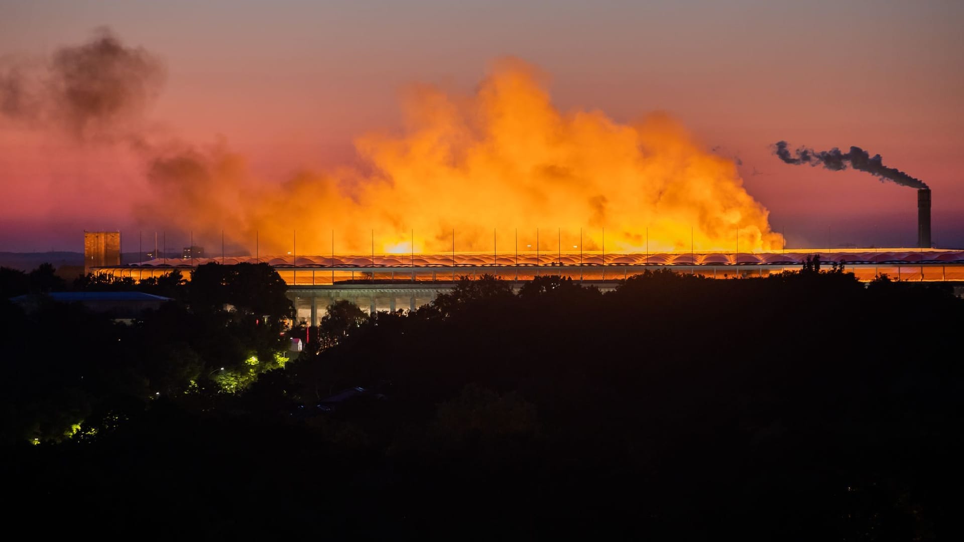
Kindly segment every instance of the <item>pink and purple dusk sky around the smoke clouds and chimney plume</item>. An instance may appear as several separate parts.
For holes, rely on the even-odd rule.
[[[784,164],[779,140],[881,154],[932,189],[934,242],[964,248],[964,2],[0,0],[0,59],[98,27],[163,62],[153,133],[228,146],[269,181],[355,164],[356,138],[400,129],[413,85],[470,94],[511,56],[563,113],[682,122],[736,161],[788,247],[914,246],[917,194]],[[137,250],[138,230],[164,228],[135,216],[144,176],[129,149],[0,116],[0,251],[81,251],[85,229]]]

